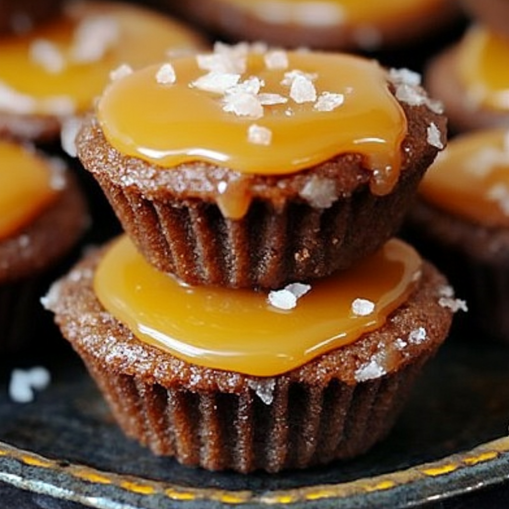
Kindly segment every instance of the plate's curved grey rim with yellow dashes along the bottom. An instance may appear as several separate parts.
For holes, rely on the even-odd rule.
[[[493,475],[496,472],[497,475]],[[58,483],[51,482],[58,480]],[[0,481],[95,509],[392,507],[405,509],[445,500],[509,479],[509,436],[443,458],[372,477],[299,488],[252,490],[184,487],[50,459],[0,441]],[[396,496],[396,494],[398,496]],[[126,504],[127,500],[127,504]],[[157,503],[154,505],[154,503]],[[134,505],[133,505],[134,504]],[[351,505],[349,505],[351,507]]]

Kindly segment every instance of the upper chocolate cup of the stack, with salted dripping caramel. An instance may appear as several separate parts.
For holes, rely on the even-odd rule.
[[[258,50],[245,48],[246,46],[236,46],[225,50],[221,47],[204,58],[223,58],[225,52],[229,54],[228,51],[246,51],[249,55],[255,54],[253,58],[257,59],[259,64],[261,59],[273,54],[267,50],[256,53]],[[347,55],[299,52],[288,55],[278,52],[278,55],[284,61],[288,57],[295,60],[283,70],[278,70],[283,81],[284,75],[293,79],[301,73],[300,81],[308,90],[314,90],[314,85],[304,74],[311,75],[313,69],[315,72],[321,69],[322,72],[324,65],[329,65],[329,69],[338,65],[340,70],[344,70],[343,66],[347,69],[349,66],[352,69],[360,66],[364,72],[364,66],[367,66],[369,72],[374,72],[377,78],[373,83],[364,80],[364,83],[368,83],[364,93],[369,97],[372,87],[374,96],[382,94],[383,100],[387,101],[388,108],[391,109],[390,115],[385,120],[376,120],[370,119],[370,114],[367,114],[364,121],[359,120],[360,117],[355,114],[358,102],[353,99],[353,105],[347,106],[350,100],[348,92],[343,96],[334,93],[337,90],[326,89],[316,93],[321,93],[322,97],[332,101],[326,107],[330,109],[319,111],[319,121],[314,124],[314,117],[310,118],[310,115],[314,115],[316,110],[313,105],[320,103],[318,95],[311,101],[305,99],[299,104],[288,96],[283,97],[280,93],[271,93],[270,90],[267,90],[268,93],[262,90],[259,94],[240,92],[239,95],[244,94],[244,98],[247,97],[249,101],[256,102],[258,97],[265,100],[268,96],[271,101],[276,101],[274,104],[278,104],[277,101],[288,101],[288,105],[278,104],[281,108],[278,113],[267,113],[253,120],[249,114],[221,111],[221,94],[207,95],[207,92],[196,90],[197,87],[194,86],[181,87],[182,93],[187,94],[189,90],[194,97],[188,98],[189,102],[180,98],[173,103],[178,105],[174,106],[174,109],[179,109],[180,105],[184,104],[184,118],[175,123],[175,136],[185,130],[186,136],[199,137],[205,132],[205,128],[200,128],[202,122],[207,126],[207,132],[212,133],[221,133],[223,126],[225,129],[233,126],[238,132],[235,131],[236,138],[231,138],[235,140],[230,142],[234,146],[232,150],[241,147],[241,154],[237,159],[252,163],[254,167],[248,171],[235,168],[235,161],[228,164],[210,158],[207,160],[207,156],[221,153],[224,147],[217,149],[209,145],[198,146],[196,150],[192,149],[194,152],[191,155],[184,156],[183,161],[175,164],[165,164],[158,156],[152,159],[146,157],[146,154],[158,151],[163,153],[166,149],[169,153],[172,152],[171,127],[162,129],[164,133],[170,133],[168,140],[162,142],[162,148],[148,146],[142,147],[143,150],[140,149],[138,153],[133,153],[132,150],[131,153],[126,153],[132,149],[130,147],[123,152],[123,148],[115,146],[116,141],[112,144],[104,132],[108,121],[101,119],[101,103],[98,106],[99,118],[88,118],[78,134],[78,155],[84,167],[103,188],[124,230],[147,260],[161,271],[174,273],[190,284],[279,288],[286,283],[320,278],[345,269],[357,259],[376,251],[395,233],[422,175],[437,152],[443,148],[446,136],[445,118],[439,112],[438,106],[430,101],[418,86],[417,75],[406,71],[386,73],[371,61]],[[318,68],[315,68],[315,59],[320,62]],[[194,64],[190,59],[184,59],[180,63],[175,60],[174,65],[178,67]],[[297,65],[304,66],[306,73],[293,73],[293,66]],[[160,69],[147,68],[139,74],[134,73],[124,78],[126,81],[113,83],[110,89],[110,97],[117,100],[119,96],[114,92],[116,85],[119,84],[122,95],[129,88],[130,78],[139,79],[140,83],[145,83],[146,79],[156,85],[154,93],[162,96],[158,96],[152,106],[138,96],[136,100],[131,100],[131,103],[136,104],[133,104],[134,109],[130,113],[127,112],[131,105],[125,103],[128,96],[122,95],[121,102],[126,108],[124,111],[127,116],[137,119],[138,127],[145,125],[143,117],[139,115],[145,115],[150,108],[153,108],[153,111],[147,114],[149,123],[150,119],[158,116],[163,119],[164,114],[161,111],[171,111],[171,103],[165,103],[164,106],[158,104],[165,100],[164,94],[171,91],[172,86],[177,86],[162,83],[161,89],[157,90],[159,84],[154,76],[164,69],[164,65]],[[177,69],[177,75],[178,72]],[[198,76],[200,72],[197,71]],[[206,76],[212,74],[213,72],[210,72]],[[125,89],[122,88],[124,83]],[[351,83],[342,83],[338,88],[342,91],[344,89],[341,87],[349,90],[350,85]],[[244,84],[240,83],[238,86],[243,87]],[[201,110],[185,116],[187,105],[196,103],[196,97],[202,93],[205,99],[201,97],[199,100],[204,100],[206,108],[209,109],[212,104],[212,108],[215,108],[213,115],[218,110],[222,116],[218,114],[217,118],[212,116],[210,119],[205,114],[203,120],[200,118]],[[365,96],[359,92],[359,97]],[[379,96],[376,97],[378,100]],[[343,99],[345,104],[340,105]],[[307,104],[303,104],[304,102]],[[140,110],[136,108],[141,105],[143,111],[139,113]],[[283,109],[287,106],[288,109]],[[226,109],[229,107],[228,104],[224,106]],[[233,109],[236,107],[231,106]],[[300,122],[300,112],[304,107],[308,110]],[[276,106],[269,105],[265,108],[272,112],[271,108]],[[342,108],[351,108],[346,110],[349,112],[346,115],[352,116],[342,118]],[[381,110],[385,112],[384,108],[385,106]],[[376,110],[377,106],[374,109]],[[389,117],[391,120],[387,121]],[[273,142],[264,138],[270,138],[272,132],[263,126],[264,122],[272,119],[276,119]],[[360,134],[364,133],[365,127],[370,129],[369,120],[374,120],[375,129],[378,128],[378,123],[386,126],[381,128],[382,134],[373,134],[372,137],[369,134]],[[324,132],[324,124],[320,122],[327,126]],[[352,126],[353,134],[344,129],[344,122]],[[287,125],[290,126],[290,136],[285,131]],[[152,132],[153,127],[147,124],[147,133]],[[255,134],[254,139],[248,139],[251,133]],[[261,136],[257,137],[259,134]],[[132,140],[136,136],[128,130],[117,132],[113,137],[117,135],[121,140]],[[382,141],[385,135],[391,137],[395,143],[391,154],[398,162],[391,167],[386,161],[381,166],[388,170],[379,171],[380,167],[378,170],[373,167],[373,158],[380,155],[380,146],[383,147],[382,151],[388,145],[392,147],[391,142]],[[223,133],[219,143],[230,140],[231,136],[234,134],[229,131]],[[355,145],[356,136],[359,145]],[[397,141],[394,141],[396,138]],[[283,142],[279,145],[281,139]],[[308,142],[315,143],[318,140],[318,143],[322,143],[323,139],[326,139],[323,143],[328,144],[326,148],[321,145],[318,149],[312,147],[310,152],[314,159],[311,162],[309,158],[306,160]],[[364,141],[373,139],[382,143],[371,148],[363,145]],[[148,143],[152,141],[149,140]],[[178,143],[180,140],[176,142],[177,145]],[[279,150],[278,147],[282,149]],[[228,146],[224,149],[226,160],[230,149]],[[175,149],[175,152],[178,150],[179,148]],[[199,156],[193,155],[200,150]],[[243,150],[251,155],[245,157]],[[370,152],[371,150],[373,152]],[[389,152],[390,150],[392,149],[389,149]],[[205,156],[202,157],[203,154]],[[288,157],[291,164],[278,162],[277,158],[281,154]],[[382,155],[382,158],[386,155]],[[295,161],[297,163],[294,168],[292,164]]]

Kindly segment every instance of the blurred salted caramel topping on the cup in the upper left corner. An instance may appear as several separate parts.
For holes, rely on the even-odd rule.
[[[0,41],[0,110],[68,115],[92,105],[122,64],[133,68],[196,48],[198,38],[128,4],[76,2],[66,14]]]

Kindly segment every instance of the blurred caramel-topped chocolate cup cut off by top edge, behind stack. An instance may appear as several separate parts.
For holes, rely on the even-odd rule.
[[[416,42],[447,26],[454,2],[409,0],[320,2],[283,0],[159,0],[190,22],[232,42],[264,41],[285,48],[380,50]]]

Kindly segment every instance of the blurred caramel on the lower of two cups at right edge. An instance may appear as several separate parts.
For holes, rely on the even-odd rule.
[[[509,130],[453,139],[419,187],[436,207],[488,226],[509,226]]]

